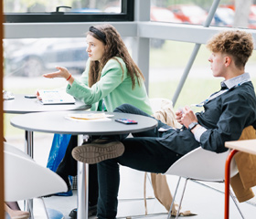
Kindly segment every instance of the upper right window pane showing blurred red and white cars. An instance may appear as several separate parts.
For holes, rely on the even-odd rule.
[[[151,20],[204,25],[213,2],[200,0],[151,0]],[[171,12],[172,16],[167,15],[167,10]],[[255,29],[256,0],[221,0],[210,26]]]

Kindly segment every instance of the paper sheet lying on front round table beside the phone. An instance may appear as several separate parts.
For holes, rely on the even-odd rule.
[[[107,115],[105,113],[73,113],[67,115],[65,118],[68,120],[76,120],[76,121],[104,121],[104,120],[111,120],[110,117],[113,117],[113,115]]]

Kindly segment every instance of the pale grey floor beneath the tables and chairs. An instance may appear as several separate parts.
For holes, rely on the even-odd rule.
[[[23,138],[8,139],[9,143],[23,149]],[[35,156],[36,162],[46,165],[48,160],[48,151],[51,147],[52,135],[35,134]],[[177,177],[167,176],[170,190],[174,193]],[[182,181],[184,183],[184,181]],[[224,217],[224,184],[208,183],[204,186],[199,183],[187,183],[187,191],[182,203],[181,212],[190,211],[194,216],[187,216],[193,219],[219,219]],[[39,185],[37,185],[39,186]],[[253,189],[256,193],[256,189]],[[149,179],[146,183],[147,197],[147,215],[145,215],[144,207],[144,172],[137,172],[132,169],[121,167],[121,186],[119,193],[118,218],[167,218],[165,207],[155,199]],[[180,193],[177,194],[179,200]],[[19,202],[23,206],[23,202]],[[73,195],[69,197],[52,196],[34,200],[34,215],[37,219],[47,218],[44,213],[44,204],[49,212],[53,210],[63,214],[63,218],[69,218],[69,212],[77,206],[77,190],[73,191]],[[240,209],[246,219],[256,218],[256,198],[251,199],[247,203],[239,203]],[[53,210],[52,210],[53,209]],[[5,218],[8,218],[6,216]],[[59,217],[51,217],[59,218]],[[95,218],[91,217],[90,219]],[[240,214],[234,203],[230,200],[230,217],[231,219],[239,219]]]

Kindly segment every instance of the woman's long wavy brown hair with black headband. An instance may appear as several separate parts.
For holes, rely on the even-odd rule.
[[[89,87],[95,84],[101,78],[101,70],[111,58],[119,62],[122,70],[123,67],[116,57],[121,57],[126,65],[127,73],[132,78],[132,89],[136,81],[140,85],[140,78],[144,79],[144,75],[140,68],[134,63],[133,58],[130,56],[127,47],[123,43],[123,39],[117,30],[109,24],[92,26],[91,31],[87,35],[91,35],[100,40],[105,45],[105,51],[99,61],[91,61],[89,70]],[[98,32],[100,31],[100,33]],[[103,35],[101,35],[103,34]]]

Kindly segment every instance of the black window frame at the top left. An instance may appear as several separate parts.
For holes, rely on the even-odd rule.
[[[116,13],[5,13],[5,23],[51,23],[51,22],[115,22],[134,20],[134,0],[122,0],[122,12]]]

